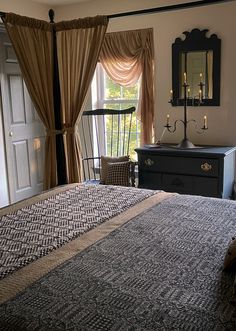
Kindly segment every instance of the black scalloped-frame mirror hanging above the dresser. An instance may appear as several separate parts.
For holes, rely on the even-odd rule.
[[[221,40],[216,34],[207,37],[208,31],[185,31],[185,39],[176,38],[172,44],[173,106],[184,104],[184,82],[188,84],[188,106],[220,105]]]

